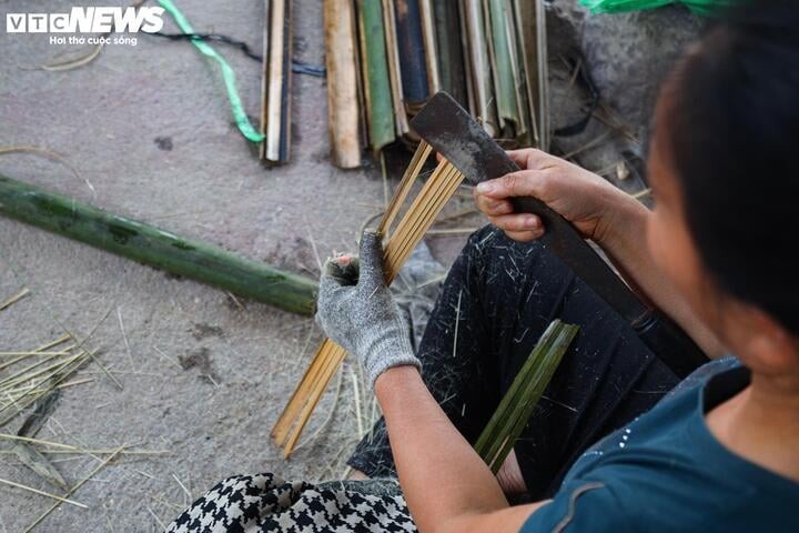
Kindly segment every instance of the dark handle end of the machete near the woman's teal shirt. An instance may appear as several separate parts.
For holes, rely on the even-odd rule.
[[[649,310],[630,325],[644,344],[680,380],[709,361],[694,339],[659,311]]]

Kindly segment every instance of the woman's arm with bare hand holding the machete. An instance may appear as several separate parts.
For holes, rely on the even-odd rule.
[[[514,213],[509,198],[536,197],[596,242],[639,294],[671,316],[710,356],[725,353],[686,300],[660,275],[646,243],[651,212],[587,170],[534,149],[508,152],[523,170],[481,183],[475,201],[496,227],[517,241],[544,234],[538,217]]]

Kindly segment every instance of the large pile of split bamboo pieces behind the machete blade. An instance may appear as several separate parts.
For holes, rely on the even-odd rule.
[[[334,164],[418,139],[409,119],[452,94],[512,147],[548,145],[543,0],[325,0]]]

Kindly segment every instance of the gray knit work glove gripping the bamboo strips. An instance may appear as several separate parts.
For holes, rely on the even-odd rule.
[[[392,366],[421,368],[409,331],[385,284],[383,247],[375,232],[364,232],[360,258],[342,255],[325,262],[316,322],[361,361],[372,386]]]

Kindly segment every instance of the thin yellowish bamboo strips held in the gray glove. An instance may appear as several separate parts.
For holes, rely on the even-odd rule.
[[[391,225],[407,198],[411,185],[418,177],[431,152],[427,143],[419,144],[377,228],[378,232],[386,235],[383,262],[388,284],[463,181],[463,174],[455,167],[446,160],[441,161],[394,231],[390,233]],[[346,351],[330,339],[325,340],[316,351],[311,365],[272,429],[272,438],[283,449],[285,457],[289,457],[294,451],[322,393],[341,366],[345,355]]]

